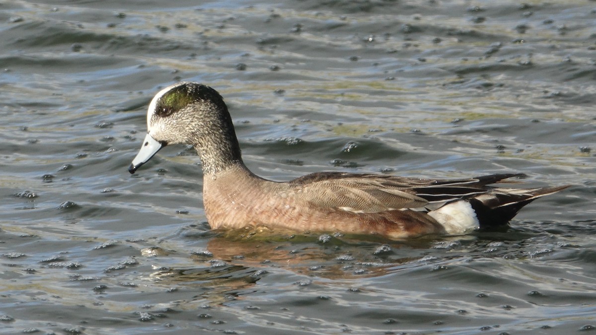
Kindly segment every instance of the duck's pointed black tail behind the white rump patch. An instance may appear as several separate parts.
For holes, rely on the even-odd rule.
[[[480,229],[496,228],[507,225],[526,204],[569,186],[531,189],[493,188],[490,193],[468,198],[468,202],[476,212]]]

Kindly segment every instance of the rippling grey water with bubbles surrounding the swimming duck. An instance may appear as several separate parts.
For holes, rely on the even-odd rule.
[[[0,332],[596,331],[596,2],[1,1]],[[146,108],[194,80],[245,161],[523,172],[507,232],[210,232],[198,157],[131,176]]]

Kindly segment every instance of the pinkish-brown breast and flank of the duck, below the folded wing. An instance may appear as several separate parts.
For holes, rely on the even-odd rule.
[[[214,229],[264,225],[294,231],[383,234],[394,238],[446,232],[428,215],[415,210],[354,212],[324,206],[318,200],[312,201],[309,193],[314,184],[273,182],[250,175],[247,170],[226,170],[204,181],[207,221]]]

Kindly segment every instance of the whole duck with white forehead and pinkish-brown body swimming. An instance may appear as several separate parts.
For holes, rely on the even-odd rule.
[[[271,181],[244,165],[224,98],[197,82],[179,82],[157,92],[147,110],[147,135],[128,171],[135,173],[173,144],[192,145],[198,153],[204,212],[212,229],[267,227],[392,239],[460,235],[507,227],[526,204],[569,187],[495,185],[522,173],[428,179],[316,172]]]

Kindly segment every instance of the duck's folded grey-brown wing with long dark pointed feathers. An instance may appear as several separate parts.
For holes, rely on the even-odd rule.
[[[498,190],[487,184],[523,176],[502,173],[470,179],[419,179],[370,173],[319,172],[290,181],[299,199],[311,206],[374,213],[396,209],[427,210],[461,198]]]

